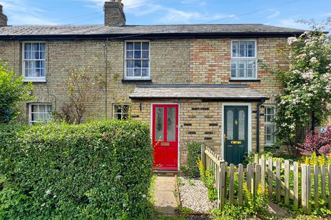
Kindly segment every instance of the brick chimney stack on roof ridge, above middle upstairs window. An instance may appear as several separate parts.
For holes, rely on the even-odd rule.
[[[121,0],[110,0],[105,2],[103,10],[105,11],[106,26],[126,25],[126,14]]]

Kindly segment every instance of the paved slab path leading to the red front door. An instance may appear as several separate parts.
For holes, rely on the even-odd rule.
[[[157,176],[154,183],[154,208],[161,214],[175,214],[178,206],[174,196],[176,179]]]

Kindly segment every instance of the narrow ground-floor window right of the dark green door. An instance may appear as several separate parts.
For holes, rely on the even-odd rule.
[[[265,105],[264,107],[264,136],[265,145],[272,145],[276,142],[276,136],[274,135],[276,131],[276,124],[274,119],[276,117],[276,106],[275,105]]]

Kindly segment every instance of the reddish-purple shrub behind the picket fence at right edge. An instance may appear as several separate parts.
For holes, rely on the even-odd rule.
[[[327,126],[325,131],[308,133],[305,142],[299,144],[297,149],[301,155],[330,155],[331,153],[331,126]]]

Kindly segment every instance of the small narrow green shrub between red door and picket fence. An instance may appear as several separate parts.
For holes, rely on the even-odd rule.
[[[200,176],[197,160],[201,157],[201,144],[192,142],[188,144],[188,177],[197,178]]]

